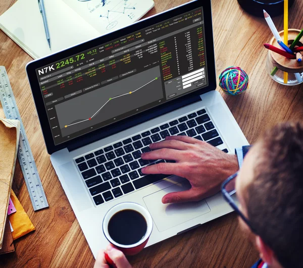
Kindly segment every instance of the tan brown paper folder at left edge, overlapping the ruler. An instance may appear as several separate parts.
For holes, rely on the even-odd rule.
[[[0,119],[0,249],[8,216],[19,137],[20,121]]]

